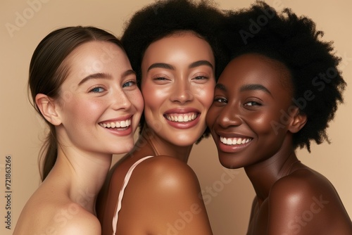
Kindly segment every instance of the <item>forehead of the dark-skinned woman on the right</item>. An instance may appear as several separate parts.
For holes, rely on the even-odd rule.
[[[258,83],[267,86],[275,84],[287,90],[293,88],[291,73],[286,65],[256,53],[248,53],[232,59],[220,75],[219,82]]]

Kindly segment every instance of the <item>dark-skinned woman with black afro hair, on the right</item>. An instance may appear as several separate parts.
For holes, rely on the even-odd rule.
[[[332,42],[305,16],[263,1],[227,13],[220,38],[232,60],[206,122],[220,163],[244,167],[256,198],[247,234],[352,234],[334,186],[295,149],[328,141],[346,86]]]

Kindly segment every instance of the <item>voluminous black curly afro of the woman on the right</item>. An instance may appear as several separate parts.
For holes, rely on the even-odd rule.
[[[328,122],[343,103],[346,87],[337,68],[341,58],[334,54],[333,42],[322,41],[323,35],[310,18],[289,8],[278,13],[264,1],[256,1],[250,8],[227,11],[225,30],[219,36],[231,58],[258,53],[286,66],[293,105],[307,117],[306,125],[293,136],[294,148],[306,146],[308,151],[310,141],[329,143]],[[313,93],[312,100],[305,100],[306,91]]]

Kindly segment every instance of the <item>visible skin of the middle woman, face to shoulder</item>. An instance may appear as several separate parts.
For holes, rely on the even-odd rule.
[[[113,232],[127,170],[148,155],[156,157],[137,165],[127,184],[116,234],[212,234],[198,179],[187,160],[206,129],[214,66],[209,44],[192,32],[177,32],[146,49],[141,87],[146,127],[133,151],[114,165],[102,191],[97,206],[102,234]],[[175,122],[176,116],[190,120]]]

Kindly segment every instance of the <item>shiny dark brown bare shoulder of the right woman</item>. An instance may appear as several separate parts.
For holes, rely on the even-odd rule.
[[[352,231],[351,220],[334,186],[309,168],[279,179],[270,190],[268,206],[270,234]]]

